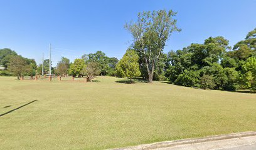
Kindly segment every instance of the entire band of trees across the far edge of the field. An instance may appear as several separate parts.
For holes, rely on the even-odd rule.
[[[229,46],[224,37],[209,37],[203,44],[191,44],[177,51],[163,53],[171,34],[179,32],[176,12],[159,10],[138,14],[136,22],[125,24],[132,34],[133,43],[120,61],[97,51],[84,54],[70,63],[61,58],[53,74],[74,77],[96,75],[141,77],[152,83],[165,80],[170,83],[203,89],[256,91],[256,28],[245,39]],[[16,58],[19,59],[16,59]],[[15,61],[14,61],[15,60]],[[45,74],[49,71],[49,59],[36,66],[35,60],[18,56],[11,49],[0,49],[0,65],[7,68],[1,75]],[[19,67],[18,67],[19,66]],[[23,66],[23,67],[20,67]],[[8,72],[9,71],[9,72]]]

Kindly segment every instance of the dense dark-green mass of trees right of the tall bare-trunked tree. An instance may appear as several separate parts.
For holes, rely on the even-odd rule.
[[[256,29],[231,49],[224,37],[209,37],[167,54],[171,83],[203,89],[256,90]]]

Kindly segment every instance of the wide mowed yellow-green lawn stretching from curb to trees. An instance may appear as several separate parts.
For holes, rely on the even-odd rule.
[[[27,104],[0,116],[0,149],[107,149],[256,130],[256,94],[125,80],[0,77],[0,114]]]

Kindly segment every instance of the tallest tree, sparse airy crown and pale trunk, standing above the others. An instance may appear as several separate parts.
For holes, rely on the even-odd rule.
[[[134,48],[144,58],[149,83],[152,83],[155,65],[163,53],[166,41],[172,32],[180,31],[174,16],[176,12],[172,10],[144,11],[138,14],[137,22],[125,24],[125,29],[134,38]]]

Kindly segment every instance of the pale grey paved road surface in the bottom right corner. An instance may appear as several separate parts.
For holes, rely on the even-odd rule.
[[[157,150],[256,150],[256,136],[186,144]]]

